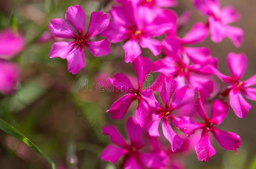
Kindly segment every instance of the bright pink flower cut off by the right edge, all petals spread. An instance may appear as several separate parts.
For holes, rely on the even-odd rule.
[[[240,118],[244,118],[251,109],[251,105],[243,98],[240,92],[242,92],[246,98],[256,101],[256,88],[250,88],[251,86],[256,85],[256,75],[253,75],[246,81],[240,80],[247,67],[245,54],[229,53],[227,55],[227,66],[232,77],[223,75],[216,68],[212,68],[212,70],[220,80],[229,84],[222,95],[229,95],[230,106],[235,114]]]

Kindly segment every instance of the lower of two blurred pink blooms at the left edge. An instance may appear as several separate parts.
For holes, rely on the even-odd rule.
[[[19,73],[15,63],[0,60],[0,93],[11,94],[15,91]]]

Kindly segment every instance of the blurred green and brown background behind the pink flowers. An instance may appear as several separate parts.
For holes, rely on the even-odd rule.
[[[47,30],[52,18],[64,18],[70,5],[81,5],[87,17],[94,10],[107,12],[110,4],[105,0],[0,0],[0,29],[10,26],[14,15],[18,20],[18,30],[26,38],[26,48],[15,58],[21,66],[21,78],[17,92],[12,96],[0,96],[0,117],[22,131],[58,166],[58,169],[115,169],[110,163],[99,159],[102,149],[108,144],[102,136],[101,127],[115,124],[125,134],[124,122],[112,121],[105,111],[122,93],[100,92],[96,86],[86,90],[86,83],[105,83],[107,77],[116,72],[133,73],[131,64],[124,63],[122,44],[112,45],[109,55],[94,58],[88,51],[86,68],[73,76],[67,72],[66,61],[50,59],[48,53],[54,40],[40,42],[38,39]],[[178,0],[173,8],[178,14],[190,10],[191,20],[180,35],[191,25],[206,18],[193,8],[191,0]],[[234,25],[243,28],[244,43],[235,48],[225,39],[214,44],[207,39],[203,44],[219,59],[219,68],[229,73],[226,66],[227,53],[244,52],[248,56],[248,69],[244,79],[256,73],[256,1],[220,0],[221,4],[234,6],[242,18]],[[89,18],[87,19],[87,22]],[[45,33],[47,37],[47,32]],[[155,58],[148,50],[143,55]],[[1,83],[1,82],[0,82]],[[246,119],[238,119],[230,110],[220,126],[223,130],[240,135],[242,146],[238,154],[224,151],[213,142],[217,154],[208,163],[197,160],[192,151],[185,157],[188,169],[248,169],[256,155],[256,103],[249,101],[252,108]],[[134,112],[136,104],[129,113]],[[25,144],[0,131],[0,169],[48,169],[47,161],[38,156]]]

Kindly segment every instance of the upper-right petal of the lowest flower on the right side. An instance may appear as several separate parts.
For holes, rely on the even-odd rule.
[[[214,100],[212,103],[212,117],[216,122],[216,125],[222,123],[222,121],[226,118],[229,111],[229,106],[226,102],[221,100]]]

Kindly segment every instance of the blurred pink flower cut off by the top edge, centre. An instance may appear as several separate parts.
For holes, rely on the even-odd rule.
[[[125,4],[129,0],[115,0],[118,3]],[[162,8],[177,6],[176,0],[132,0],[140,16],[144,17],[147,23],[151,23],[159,14],[163,12]]]

